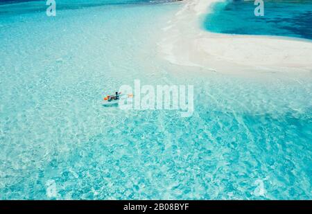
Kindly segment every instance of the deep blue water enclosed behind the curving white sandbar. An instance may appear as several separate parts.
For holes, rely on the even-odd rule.
[[[312,39],[312,1],[264,1],[264,16],[254,15],[254,2],[215,3],[205,29],[215,33],[277,35]]]

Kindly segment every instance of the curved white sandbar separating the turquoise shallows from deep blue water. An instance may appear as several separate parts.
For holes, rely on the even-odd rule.
[[[284,37],[209,33],[200,26],[209,6],[220,0],[187,0],[168,21],[159,43],[173,64],[222,73],[312,71],[312,42]]]

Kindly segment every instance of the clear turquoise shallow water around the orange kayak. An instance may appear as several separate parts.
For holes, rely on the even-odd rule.
[[[0,12],[1,199],[311,199],[311,73],[250,78],[169,64],[156,44],[179,3],[53,18],[0,11],[8,8]],[[134,79],[193,84],[193,116],[101,105]]]

